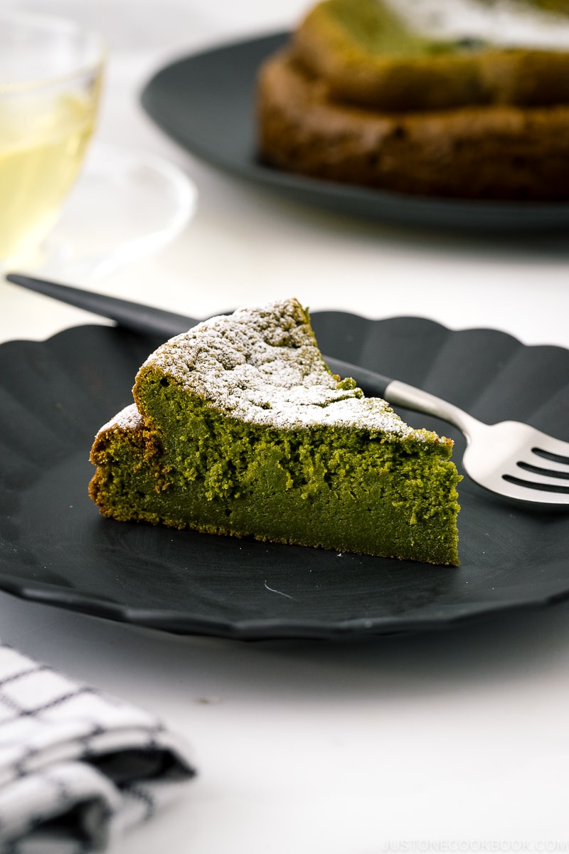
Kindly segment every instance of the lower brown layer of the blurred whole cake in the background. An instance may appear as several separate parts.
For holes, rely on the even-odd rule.
[[[289,50],[258,77],[258,151],[269,166],[415,196],[569,198],[569,103],[386,113],[334,100]]]

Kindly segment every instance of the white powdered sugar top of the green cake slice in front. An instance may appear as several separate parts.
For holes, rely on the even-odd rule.
[[[386,401],[338,383],[322,359],[299,301],[270,302],[220,315],[172,338],[148,357],[136,378],[166,377],[224,414],[268,427],[356,426],[413,436]],[[345,387],[344,387],[345,386]],[[134,416],[126,410],[123,421]]]

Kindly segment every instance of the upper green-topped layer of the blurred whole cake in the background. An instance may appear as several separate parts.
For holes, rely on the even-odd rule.
[[[324,0],[291,50],[340,102],[390,112],[569,101],[569,52],[415,32],[384,0]]]

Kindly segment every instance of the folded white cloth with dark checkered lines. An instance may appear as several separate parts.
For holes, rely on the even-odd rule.
[[[195,775],[149,714],[0,644],[0,851],[103,851]]]

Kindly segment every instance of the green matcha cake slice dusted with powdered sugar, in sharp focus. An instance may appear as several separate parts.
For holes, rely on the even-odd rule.
[[[165,342],[133,396],[91,450],[104,516],[458,563],[452,442],[334,376],[298,301]]]

